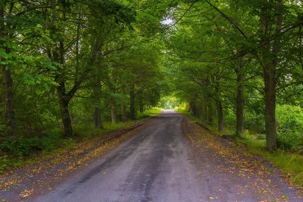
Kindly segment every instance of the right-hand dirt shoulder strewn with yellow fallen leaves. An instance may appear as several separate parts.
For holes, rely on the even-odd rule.
[[[244,144],[212,135],[186,116],[182,129],[192,142],[196,166],[208,175],[205,183],[216,190],[210,199],[235,194],[235,201],[302,201],[302,193],[272,162],[250,153]]]

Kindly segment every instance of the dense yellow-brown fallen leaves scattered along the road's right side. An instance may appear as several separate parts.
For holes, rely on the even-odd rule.
[[[249,179],[252,175],[257,174],[258,177],[255,179],[255,183],[252,184],[252,186],[256,187],[259,191],[254,197],[266,197],[266,199],[263,199],[265,202],[288,200],[288,196],[286,194],[279,196],[273,195],[273,190],[276,189],[276,185],[272,183],[271,179],[268,178],[271,174],[271,170],[268,169],[268,166],[264,165],[262,158],[251,154],[248,149],[244,148],[243,145],[239,145],[236,142],[227,141],[225,139],[221,139],[220,137],[212,135],[204,128],[196,125],[195,122],[190,121],[187,117],[185,117],[183,120],[182,128],[184,130],[184,133],[190,138],[194,147],[201,151],[211,150],[214,157],[213,161],[216,160],[221,164],[229,165],[228,168],[218,166],[217,168],[219,170],[237,174],[237,176],[243,177],[244,179]],[[222,158],[225,162],[221,162]],[[206,167],[209,168],[210,164],[206,165]],[[214,170],[213,174],[216,173],[217,172]],[[261,186],[264,188],[261,189]],[[251,189],[252,187],[249,187],[247,185],[244,186],[243,189],[245,188]],[[238,194],[244,194],[245,190],[243,189],[239,189]],[[214,196],[209,196],[209,198],[212,199]]]

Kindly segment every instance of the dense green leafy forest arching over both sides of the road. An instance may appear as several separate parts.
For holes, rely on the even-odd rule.
[[[302,26],[298,0],[1,0],[0,163],[157,106],[301,154]]]

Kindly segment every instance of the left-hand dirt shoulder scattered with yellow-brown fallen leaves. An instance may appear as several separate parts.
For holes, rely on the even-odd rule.
[[[110,150],[151,124],[153,118],[145,119],[129,128],[91,137],[70,148],[64,147],[42,155],[37,163],[14,168],[9,173],[0,175],[0,200],[22,201],[31,195],[54,189],[70,175],[98,161]]]

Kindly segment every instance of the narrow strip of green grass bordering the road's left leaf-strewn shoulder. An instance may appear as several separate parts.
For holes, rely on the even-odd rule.
[[[6,174],[10,172],[12,168],[22,168],[24,166],[38,163],[42,160],[52,158],[57,153],[63,153],[65,150],[70,148],[77,147],[77,143],[82,141],[89,140],[94,136],[103,136],[114,130],[123,130],[132,126],[137,125],[142,120],[157,116],[160,113],[160,108],[152,108],[148,111],[140,113],[137,115],[137,120],[135,121],[125,121],[118,122],[117,124],[111,124],[111,122],[104,122],[104,129],[94,129],[92,124],[90,125],[82,125],[82,126],[74,126],[75,137],[68,139],[57,139],[54,145],[49,146],[49,149],[45,150],[35,150],[32,149],[31,153],[26,156],[16,156],[11,154],[8,151],[0,150],[0,174]],[[60,136],[60,135],[59,135]],[[1,142],[0,142],[1,143]],[[22,149],[23,147],[32,146],[26,145],[27,142],[22,142],[21,145],[16,146],[16,149]],[[15,144],[15,143],[14,143]]]

